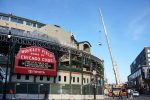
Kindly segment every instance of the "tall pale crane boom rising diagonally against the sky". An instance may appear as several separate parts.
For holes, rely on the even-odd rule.
[[[101,17],[101,21],[102,21],[102,24],[103,24],[105,37],[106,37],[106,41],[107,41],[107,46],[108,46],[108,50],[109,50],[109,54],[110,54],[110,58],[111,58],[112,66],[113,66],[113,71],[114,71],[114,75],[115,75],[116,85],[119,85],[119,84],[121,84],[121,80],[120,80],[120,76],[119,76],[119,72],[118,72],[118,65],[117,65],[115,59],[112,56],[112,49],[111,49],[110,41],[109,41],[109,38],[108,38],[108,31],[107,31],[107,28],[105,26],[103,15],[102,15],[102,12],[101,12],[100,9],[99,9],[99,12],[100,12],[100,17]]]

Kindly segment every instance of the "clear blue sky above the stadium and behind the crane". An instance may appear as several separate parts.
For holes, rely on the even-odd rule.
[[[0,0],[0,12],[59,25],[77,41],[89,41],[92,54],[104,60],[108,82],[115,83],[99,8],[121,81],[126,82],[131,63],[150,46],[150,0]]]

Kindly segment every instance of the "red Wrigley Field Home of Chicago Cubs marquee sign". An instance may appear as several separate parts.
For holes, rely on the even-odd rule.
[[[55,76],[55,56],[37,46],[21,48],[15,57],[14,73]]]

